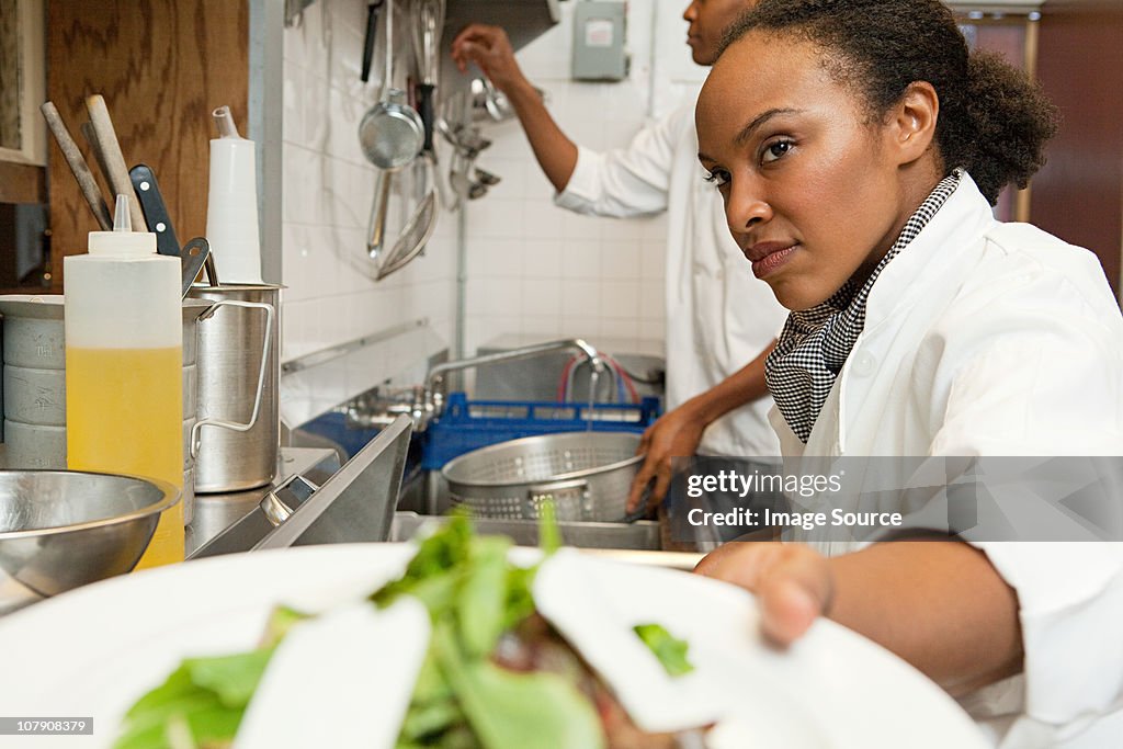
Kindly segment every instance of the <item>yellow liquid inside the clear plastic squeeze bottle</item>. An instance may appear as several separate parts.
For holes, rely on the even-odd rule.
[[[183,490],[180,348],[66,347],[66,464]],[[165,510],[137,569],[183,561],[183,503]]]

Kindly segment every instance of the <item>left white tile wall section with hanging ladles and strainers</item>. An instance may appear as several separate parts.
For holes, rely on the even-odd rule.
[[[421,258],[384,281],[371,277],[366,230],[376,171],[359,149],[358,122],[377,99],[382,68],[380,55],[371,82],[359,81],[366,7],[318,0],[284,31],[283,359],[418,318],[451,339],[454,216],[440,216]],[[399,188],[410,192],[411,179],[402,175]],[[412,205],[394,193],[391,241]]]

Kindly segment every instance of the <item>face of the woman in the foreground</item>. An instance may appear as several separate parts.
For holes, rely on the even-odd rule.
[[[868,275],[911,214],[894,128],[870,122],[821,61],[810,43],[750,31],[718,60],[695,112],[730,231],[792,310]]]

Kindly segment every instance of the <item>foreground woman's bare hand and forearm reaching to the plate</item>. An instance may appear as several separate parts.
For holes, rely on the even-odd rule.
[[[960,541],[888,541],[831,559],[802,544],[734,541],[694,572],[756,593],[760,627],[780,645],[829,615],[952,695],[1022,668],[1017,595]]]

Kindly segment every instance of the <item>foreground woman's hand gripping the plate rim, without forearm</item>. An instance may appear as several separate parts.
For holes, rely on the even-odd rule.
[[[706,555],[694,572],[755,593],[760,628],[779,645],[798,639],[834,599],[825,557],[800,544],[733,541]]]

